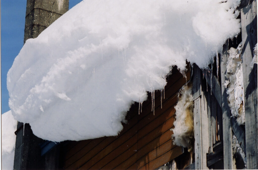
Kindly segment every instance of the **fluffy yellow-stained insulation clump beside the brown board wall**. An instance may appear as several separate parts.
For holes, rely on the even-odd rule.
[[[175,106],[176,119],[173,128],[173,141],[178,146],[192,150],[193,129],[193,98],[192,86],[185,85],[178,94],[178,102]]]

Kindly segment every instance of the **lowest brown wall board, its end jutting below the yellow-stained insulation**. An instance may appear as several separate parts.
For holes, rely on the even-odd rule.
[[[165,163],[173,160],[174,158],[178,157],[183,153],[183,148],[181,146],[176,146],[174,149],[169,150],[168,152],[164,153],[157,159],[150,161],[149,163],[145,164],[144,166],[140,167],[139,169],[156,169]]]

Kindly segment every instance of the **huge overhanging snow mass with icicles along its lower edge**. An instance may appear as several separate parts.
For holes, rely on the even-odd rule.
[[[240,0],[84,0],[7,74],[15,119],[51,141],[117,135],[131,104],[163,89],[172,65],[204,68],[240,32]]]

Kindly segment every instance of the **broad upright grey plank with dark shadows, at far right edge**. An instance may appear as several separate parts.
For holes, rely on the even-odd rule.
[[[257,64],[253,68],[253,48],[257,43],[257,1],[241,9],[242,57],[245,100],[246,166],[258,169]]]

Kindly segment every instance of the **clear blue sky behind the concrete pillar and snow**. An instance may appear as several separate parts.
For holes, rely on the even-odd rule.
[[[69,0],[69,9],[82,0]],[[6,76],[23,46],[26,0],[1,0],[1,90],[2,113],[10,110]]]

